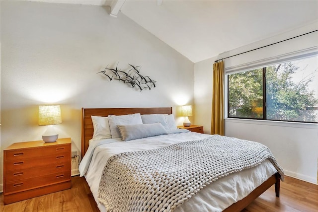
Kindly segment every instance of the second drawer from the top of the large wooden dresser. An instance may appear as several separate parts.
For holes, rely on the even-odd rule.
[[[26,169],[32,167],[46,166],[49,164],[56,164],[61,162],[67,162],[71,160],[71,152],[60,152],[56,155],[46,155],[35,158],[17,158],[16,160],[6,161],[6,171]]]

